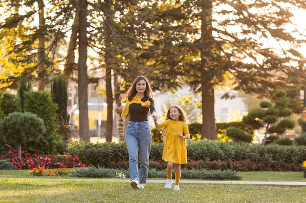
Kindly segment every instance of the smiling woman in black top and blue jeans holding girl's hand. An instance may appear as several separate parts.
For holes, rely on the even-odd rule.
[[[125,117],[123,141],[129,152],[131,186],[135,189],[144,188],[148,178],[149,156],[151,150],[151,129],[148,122],[149,111],[156,119],[153,92],[149,81],[138,76],[127,92],[128,99],[121,116]],[[138,149],[140,171],[138,172]]]

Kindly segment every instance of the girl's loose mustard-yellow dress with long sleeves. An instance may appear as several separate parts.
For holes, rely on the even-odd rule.
[[[165,162],[173,162],[175,164],[187,164],[187,148],[186,142],[177,136],[177,133],[188,135],[190,137],[188,126],[183,121],[174,121],[168,119],[156,128],[167,127],[165,146],[162,159]]]

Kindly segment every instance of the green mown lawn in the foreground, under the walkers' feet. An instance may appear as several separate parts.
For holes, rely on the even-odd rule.
[[[304,203],[306,194],[304,186],[264,185],[181,184],[181,190],[174,191],[164,189],[164,184],[146,184],[145,189],[135,190],[129,182],[70,177],[58,180],[59,177],[33,177],[30,171],[0,170],[0,203]],[[240,175],[243,177],[240,181],[306,182],[303,172],[240,172]]]

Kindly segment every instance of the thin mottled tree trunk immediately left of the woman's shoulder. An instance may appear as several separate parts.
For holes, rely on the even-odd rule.
[[[124,120],[121,116],[122,113],[122,105],[121,105],[121,92],[120,92],[120,84],[118,83],[118,75],[114,73],[114,91],[115,91],[115,113],[117,115],[117,128],[119,134],[119,140],[123,141],[124,136]]]

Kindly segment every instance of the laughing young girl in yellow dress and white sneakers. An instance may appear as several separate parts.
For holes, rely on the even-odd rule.
[[[153,117],[157,129],[165,128],[165,146],[162,159],[167,162],[167,181],[165,188],[172,187],[172,168],[175,164],[175,186],[174,190],[179,190],[179,181],[181,177],[181,164],[187,164],[186,140],[190,137],[186,115],[179,106],[170,107],[167,112],[166,121],[158,124],[157,116]],[[166,133],[164,133],[166,132]],[[166,135],[165,135],[166,134]]]

